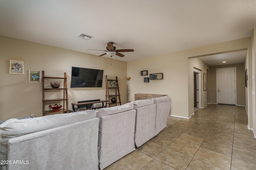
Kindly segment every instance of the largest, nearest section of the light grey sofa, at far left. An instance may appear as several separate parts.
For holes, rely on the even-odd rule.
[[[1,170],[98,170],[95,110],[9,119],[0,125]]]

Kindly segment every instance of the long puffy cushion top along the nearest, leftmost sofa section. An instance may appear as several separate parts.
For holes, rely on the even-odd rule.
[[[34,119],[9,119],[0,125],[0,160],[7,160],[8,140],[22,135],[44,131],[96,117],[95,110],[79,111],[36,117]]]

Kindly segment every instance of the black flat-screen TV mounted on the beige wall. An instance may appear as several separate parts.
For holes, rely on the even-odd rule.
[[[103,70],[72,67],[70,87],[102,87]]]

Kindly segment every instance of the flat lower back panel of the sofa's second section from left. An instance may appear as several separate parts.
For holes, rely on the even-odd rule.
[[[135,117],[135,109],[100,117],[98,158],[101,170],[135,150]]]

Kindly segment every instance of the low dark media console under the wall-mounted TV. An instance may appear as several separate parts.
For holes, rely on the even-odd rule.
[[[106,104],[104,104],[106,102]],[[101,105],[94,106],[96,103],[102,103]],[[75,107],[76,106],[76,107]],[[77,103],[72,103],[73,111],[82,111],[82,110],[88,110],[88,109],[98,109],[107,107],[107,101],[106,100],[85,100],[85,101],[79,101]]]

